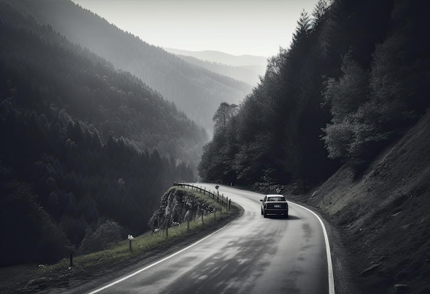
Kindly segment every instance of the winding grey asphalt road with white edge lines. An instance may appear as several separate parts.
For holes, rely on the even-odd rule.
[[[324,229],[313,212],[288,201],[287,219],[263,218],[261,194],[219,192],[243,207],[240,218],[91,293],[334,293]]]

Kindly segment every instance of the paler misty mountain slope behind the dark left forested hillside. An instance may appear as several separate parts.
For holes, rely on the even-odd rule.
[[[129,71],[212,133],[212,115],[221,102],[238,103],[251,86],[191,65],[160,47],[123,32],[70,0],[3,0],[47,23],[69,41],[87,47]],[[156,28],[155,28],[156,30]]]

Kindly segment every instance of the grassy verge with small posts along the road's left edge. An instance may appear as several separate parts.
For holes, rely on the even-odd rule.
[[[188,191],[190,192],[190,191]],[[209,201],[216,207],[219,205],[209,196],[193,192],[196,197]],[[208,214],[201,218],[181,223],[177,227],[161,230],[157,233],[148,232],[131,240],[124,240],[113,245],[110,249],[98,251],[82,256],[73,257],[73,267],[70,267],[69,258],[64,258],[56,264],[38,266],[37,264],[0,269],[0,293],[34,293],[43,289],[61,286],[67,280],[79,280],[96,275],[105,269],[122,267],[131,262],[141,260],[152,251],[161,251],[176,245],[178,242],[190,240],[196,235],[216,230],[218,227],[236,218],[240,214],[238,207],[231,205],[231,210],[217,208],[216,215]],[[167,235],[167,236],[166,236]]]

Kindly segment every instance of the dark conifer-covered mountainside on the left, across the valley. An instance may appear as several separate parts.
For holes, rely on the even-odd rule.
[[[195,179],[207,142],[139,78],[5,1],[0,136],[1,266],[146,231],[163,192]]]

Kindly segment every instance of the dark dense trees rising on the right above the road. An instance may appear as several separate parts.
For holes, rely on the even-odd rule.
[[[430,106],[424,3],[320,0],[239,104],[220,104],[205,181],[303,191],[365,167]]]

